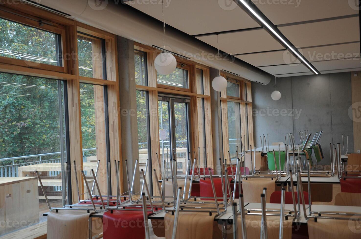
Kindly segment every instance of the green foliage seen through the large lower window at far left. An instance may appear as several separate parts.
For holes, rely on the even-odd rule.
[[[0,158],[59,152],[58,82],[6,73],[0,82]]]

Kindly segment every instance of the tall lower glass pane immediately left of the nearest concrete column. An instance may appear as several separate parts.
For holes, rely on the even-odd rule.
[[[82,122],[83,142],[83,167],[93,168],[96,171],[97,161],[100,160],[97,180],[102,190],[101,194],[106,195],[106,132],[105,132],[105,105],[104,86],[80,84],[80,111]],[[114,167],[112,162],[111,167]],[[86,172],[90,175],[91,172]],[[89,185],[93,181],[88,180]],[[85,188],[85,186],[84,186]],[[97,194],[96,194],[97,195]],[[77,195],[75,195],[76,197]],[[89,198],[86,193],[85,198]]]

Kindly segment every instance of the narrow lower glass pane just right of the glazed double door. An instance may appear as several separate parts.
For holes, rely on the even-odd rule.
[[[200,148],[200,167],[203,168],[203,162],[207,167],[206,148],[205,148],[205,119],[204,119],[204,99],[197,98],[198,110],[198,138]]]

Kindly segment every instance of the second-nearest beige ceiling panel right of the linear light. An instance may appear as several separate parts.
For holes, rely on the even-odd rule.
[[[359,18],[344,18],[278,28],[298,47],[360,41]]]

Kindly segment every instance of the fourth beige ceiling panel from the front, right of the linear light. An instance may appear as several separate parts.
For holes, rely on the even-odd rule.
[[[323,61],[323,62],[312,62],[312,64],[319,71],[361,67],[360,58],[351,58],[351,59],[343,59],[343,60],[327,60],[327,61]]]

